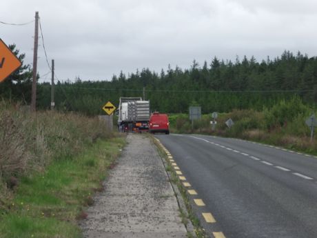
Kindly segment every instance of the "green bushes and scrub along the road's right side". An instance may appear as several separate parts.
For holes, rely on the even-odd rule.
[[[317,115],[313,107],[305,105],[299,97],[293,97],[262,111],[249,109],[218,113],[216,130],[212,130],[210,124],[212,113],[194,121],[194,128],[187,114],[171,114],[169,119],[171,131],[176,133],[235,137],[317,155],[317,141],[310,141],[311,130],[305,124],[312,113]],[[225,124],[229,118],[234,121],[232,128]]]

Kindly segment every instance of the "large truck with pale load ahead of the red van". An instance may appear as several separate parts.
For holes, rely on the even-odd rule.
[[[149,130],[150,101],[141,97],[120,97],[118,108],[120,132],[143,132]]]

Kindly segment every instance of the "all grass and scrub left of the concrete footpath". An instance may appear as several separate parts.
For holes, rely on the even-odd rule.
[[[94,117],[0,104],[0,237],[81,237],[125,138]]]

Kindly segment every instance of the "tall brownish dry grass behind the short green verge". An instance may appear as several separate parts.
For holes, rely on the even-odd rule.
[[[68,159],[99,137],[111,137],[96,117],[45,111],[31,114],[19,104],[0,101],[0,206],[16,178]]]

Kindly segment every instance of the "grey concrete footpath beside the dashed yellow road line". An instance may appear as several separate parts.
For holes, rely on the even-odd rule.
[[[186,237],[163,162],[145,135],[127,135],[104,186],[81,224],[84,237]]]

